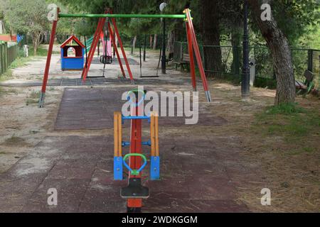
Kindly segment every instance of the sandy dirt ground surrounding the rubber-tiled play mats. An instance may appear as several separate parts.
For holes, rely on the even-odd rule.
[[[149,53],[147,62],[144,63],[143,73],[154,75],[157,65],[157,54]],[[130,56],[137,60],[137,56]],[[23,83],[26,81],[41,80],[46,57],[37,57],[33,62],[28,62],[25,67],[13,70],[13,78],[2,83],[0,87],[0,172],[8,171],[18,160],[28,154],[35,153],[35,147],[50,136],[99,136],[112,135],[112,130],[81,130],[81,131],[55,131],[54,125],[57,118],[60,101],[65,87],[48,87],[45,108],[37,106],[38,91],[40,87],[7,87],[6,83]],[[119,77],[118,65],[107,65],[107,77]],[[139,66],[132,66],[135,77],[139,77]],[[90,74],[102,74],[102,65],[92,65]],[[78,78],[79,72],[60,72],[59,56],[54,55],[50,79],[53,78]],[[161,88],[171,91],[190,91],[191,84],[171,84],[188,79],[185,72],[168,70],[166,76],[160,75],[159,81],[167,84],[156,86],[149,85],[156,90]],[[110,85],[117,88],[117,84]],[[126,85],[121,85],[126,87]],[[259,114],[274,101],[275,92],[268,89],[252,88],[250,101],[242,101],[240,87],[226,82],[209,79],[212,104],[206,104],[201,84],[199,94],[201,106],[210,109],[210,113],[224,118],[228,123],[223,126],[193,126],[192,128],[162,128],[160,137],[173,135],[197,135],[211,140],[213,138],[225,139],[228,145],[219,145],[221,148],[233,146],[242,150],[237,162],[230,166],[244,165],[252,170],[251,177],[230,175],[237,179],[236,196],[240,203],[253,212],[310,212],[320,211],[320,140],[319,134],[309,138],[309,143],[316,149],[314,153],[287,154],[286,151],[296,149],[299,145],[284,143],[284,138],[265,135],[252,130],[256,114]],[[96,86],[100,88],[103,86]],[[319,99],[298,98],[299,104],[305,108],[318,108]],[[235,144],[230,143],[236,138]],[[223,157],[223,154],[221,154]],[[260,199],[261,189],[268,188],[272,192],[272,205],[262,206]],[[0,192],[1,194],[1,192]]]

